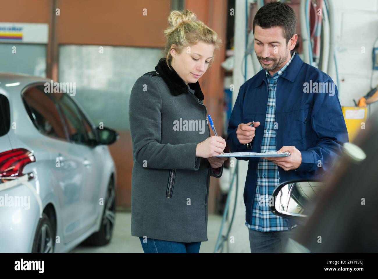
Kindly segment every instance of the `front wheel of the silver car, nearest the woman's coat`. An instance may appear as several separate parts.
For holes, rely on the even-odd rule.
[[[105,198],[104,211],[102,212],[100,230],[88,237],[83,244],[88,246],[103,246],[110,242],[113,235],[116,211],[116,191],[114,180],[111,178],[108,183]]]

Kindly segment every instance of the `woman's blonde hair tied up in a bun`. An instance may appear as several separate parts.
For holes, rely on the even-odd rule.
[[[198,41],[214,45],[214,50],[219,50],[220,45],[222,45],[222,40],[218,37],[217,32],[197,19],[195,13],[189,10],[171,11],[168,22],[170,27],[164,31],[166,36],[164,56],[166,56],[166,63],[169,68],[172,62],[171,49],[175,49],[180,54],[185,47],[195,45]],[[173,44],[175,47],[172,47]]]

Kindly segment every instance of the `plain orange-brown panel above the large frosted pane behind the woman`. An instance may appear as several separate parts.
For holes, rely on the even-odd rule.
[[[58,44],[164,46],[170,0],[58,0],[57,8]]]

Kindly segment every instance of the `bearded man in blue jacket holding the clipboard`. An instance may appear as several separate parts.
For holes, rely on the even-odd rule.
[[[262,70],[240,87],[229,120],[231,152],[290,152],[238,158],[249,160],[244,203],[251,252],[283,252],[301,227],[271,212],[273,190],[288,180],[324,180],[348,141],[335,83],[292,51],[295,31],[290,6],[270,2],[257,11],[254,50]]]

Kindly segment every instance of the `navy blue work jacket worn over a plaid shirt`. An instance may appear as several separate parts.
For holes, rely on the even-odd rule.
[[[267,103],[268,82],[265,70],[261,70],[240,87],[228,125],[231,152],[261,152]],[[256,127],[252,149],[247,149],[239,143],[236,130],[240,123],[253,121],[259,121],[260,125]],[[277,80],[275,130],[277,150],[295,146],[302,155],[298,169],[285,171],[278,167],[280,183],[293,179],[325,180],[333,161],[341,154],[342,144],[348,141],[335,83],[324,72],[304,63],[299,55]],[[244,188],[246,222],[249,222],[260,158],[238,159],[249,161]]]

